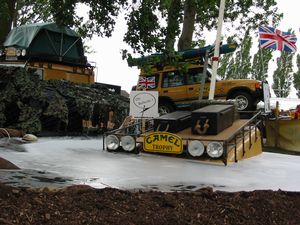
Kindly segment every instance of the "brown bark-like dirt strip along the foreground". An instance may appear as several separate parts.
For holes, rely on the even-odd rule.
[[[0,158],[0,168],[7,163]],[[12,166],[12,165],[10,165]],[[300,192],[59,190],[0,184],[0,224],[300,225]]]

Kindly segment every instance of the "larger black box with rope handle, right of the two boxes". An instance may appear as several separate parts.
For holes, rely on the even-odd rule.
[[[215,135],[230,127],[233,121],[233,105],[208,105],[192,111],[192,133]],[[196,127],[197,123],[200,125],[198,129]]]

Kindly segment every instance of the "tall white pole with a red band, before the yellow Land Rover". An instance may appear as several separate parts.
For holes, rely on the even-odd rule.
[[[219,55],[220,55],[220,42],[221,42],[221,31],[223,25],[223,17],[224,17],[224,9],[225,9],[225,0],[221,0],[220,2],[220,9],[219,9],[219,21],[218,21],[218,28],[217,28],[217,37],[215,43],[215,50],[214,56],[212,58],[212,77],[210,81],[210,89],[209,89],[209,100],[214,99],[215,94],[215,86],[216,86],[216,76],[218,70],[218,62],[219,62]]]

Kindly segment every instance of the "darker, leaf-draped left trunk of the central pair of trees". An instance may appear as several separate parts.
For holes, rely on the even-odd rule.
[[[168,10],[168,25],[165,39],[167,52],[174,50],[175,39],[179,31],[180,3],[181,0],[172,0]]]

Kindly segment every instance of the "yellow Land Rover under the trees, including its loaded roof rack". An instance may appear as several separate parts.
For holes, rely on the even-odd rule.
[[[235,50],[236,46],[221,47],[220,52],[228,53]],[[180,52],[182,61],[187,70],[179,70],[174,66],[157,66],[153,63],[155,57],[161,54],[153,54],[147,57],[128,61],[129,66],[139,66],[141,74],[138,84],[133,90],[151,90],[159,92],[159,111],[168,113],[180,108],[187,108],[199,99],[200,89],[203,86],[203,99],[207,99],[210,89],[211,69],[207,68],[203,73],[203,56],[210,46]],[[200,60],[202,59],[202,60]],[[150,63],[148,63],[148,61]],[[139,64],[150,64],[150,72],[143,72]],[[148,71],[148,70],[147,70]],[[202,78],[205,83],[201,85]],[[215,99],[236,99],[239,111],[251,111],[256,109],[259,101],[263,100],[262,82],[250,79],[222,80],[217,76],[215,87]]]

